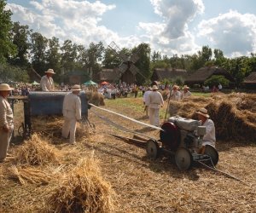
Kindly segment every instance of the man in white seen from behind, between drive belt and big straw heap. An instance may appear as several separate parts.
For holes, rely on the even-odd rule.
[[[159,110],[164,106],[163,96],[157,91],[157,86],[152,87],[152,92],[148,95],[149,100],[149,120],[150,124],[160,126]]]

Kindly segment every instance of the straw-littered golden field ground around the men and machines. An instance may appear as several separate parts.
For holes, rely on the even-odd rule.
[[[141,97],[107,100],[105,104],[104,108],[148,123],[148,118],[143,113]],[[22,118],[19,107],[16,113],[17,119]],[[255,212],[256,146],[253,141],[217,141],[218,170],[236,176],[241,181],[207,170],[200,165],[182,172],[177,170],[172,157],[150,160],[144,149],[108,135],[113,133],[132,136],[105,123],[96,116],[97,114],[115,124],[159,138],[157,130],[150,130],[92,107],[89,119],[90,123],[95,124],[96,132],[92,133],[86,125],[81,125],[80,128],[84,128],[90,135],[80,136],[75,146],[67,145],[61,141],[58,134],[45,130],[49,132],[44,139],[62,155],[58,164],[33,166],[51,176],[47,184],[26,182],[20,185],[19,181],[9,176],[8,168],[12,164],[17,164],[15,159],[10,158],[8,162],[0,164],[0,212],[54,212],[49,206],[49,197],[60,185],[61,176],[72,170],[79,159],[91,155],[99,161],[102,179],[113,188],[113,212]],[[166,106],[161,108],[161,120],[165,118],[165,114]],[[55,120],[58,120],[55,131],[59,131],[61,118]],[[40,122],[48,121],[41,120],[38,124]],[[47,129],[47,125],[44,126]],[[21,146],[11,146],[10,153],[15,156]]]

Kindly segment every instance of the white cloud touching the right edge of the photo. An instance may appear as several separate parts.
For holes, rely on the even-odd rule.
[[[249,55],[256,51],[256,15],[230,10],[210,20],[202,20],[199,37],[206,37],[213,48],[225,55]]]

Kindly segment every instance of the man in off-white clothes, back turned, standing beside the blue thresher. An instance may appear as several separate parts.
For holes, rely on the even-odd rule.
[[[72,93],[65,95],[63,101],[64,124],[62,126],[62,137],[67,139],[69,134],[70,144],[75,144],[77,121],[81,120],[81,101],[79,92],[82,90],[78,84],[71,89]]]

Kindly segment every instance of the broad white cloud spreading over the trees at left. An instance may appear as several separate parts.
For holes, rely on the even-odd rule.
[[[110,43],[120,39],[118,34],[101,26],[102,14],[115,9],[115,5],[106,5],[99,1],[42,0],[31,1],[33,9],[9,3],[7,9],[13,12],[12,20],[28,25],[34,32],[45,37],[58,37],[63,42],[71,39],[74,43],[87,46],[90,42]]]

